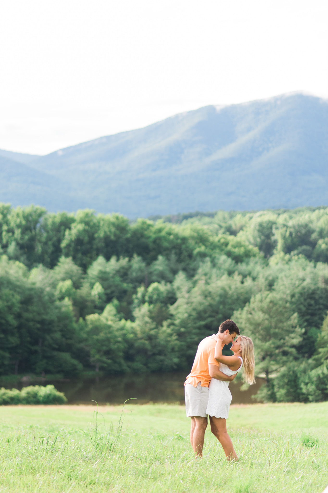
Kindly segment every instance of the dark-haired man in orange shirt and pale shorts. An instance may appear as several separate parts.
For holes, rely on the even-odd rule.
[[[239,328],[233,320],[222,322],[217,334],[206,337],[199,343],[194,364],[184,383],[186,413],[187,417],[191,418],[190,442],[196,456],[203,453],[205,430],[208,425],[206,408],[210,379],[231,382],[236,377],[228,377],[219,370],[219,363],[214,358],[216,342],[221,339],[224,344],[230,344],[238,335]]]

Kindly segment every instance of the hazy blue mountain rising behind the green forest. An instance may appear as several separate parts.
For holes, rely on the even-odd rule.
[[[327,205],[328,102],[294,94],[206,106],[33,157],[9,173],[14,159],[0,157],[0,201],[50,211],[134,218]]]

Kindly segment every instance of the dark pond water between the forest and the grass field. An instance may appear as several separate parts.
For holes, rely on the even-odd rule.
[[[24,382],[22,385],[53,384],[60,392],[64,392],[70,404],[123,404],[127,399],[134,398],[130,403],[145,404],[147,402],[179,402],[184,404],[184,387],[186,372],[125,374],[100,376],[83,379],[46,380],[44,382]],[[262,379],[257,379],[255,385],[241,391],[242,383],[233,382],[229,388],[233,404],[248,404],[254,402],[252,395],[256,394]],[[20,386],[20,387],[21,387]]]

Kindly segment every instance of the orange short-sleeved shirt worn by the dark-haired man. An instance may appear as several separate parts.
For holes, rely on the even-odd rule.
[[[218,336],[213,334],[199,343],[194,364],[184,385],[190,384],[193,387],[197,387],[198,382],[201,382],[202,387],[209,387],[211,379],[209,376],[209,365],[220,366],[214,358],[215,345],[218,339]]]

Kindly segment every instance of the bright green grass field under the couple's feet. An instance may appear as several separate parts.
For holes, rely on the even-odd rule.
[[[194,459],[182,406],[126,406],[119,433],[122,406],[99,408],[106,428],[95,427],[93,411],[1,407],[0,492],[322,493],[328,485],[328,402],[232,406],[237,463],[209,429],[204,457]]]

